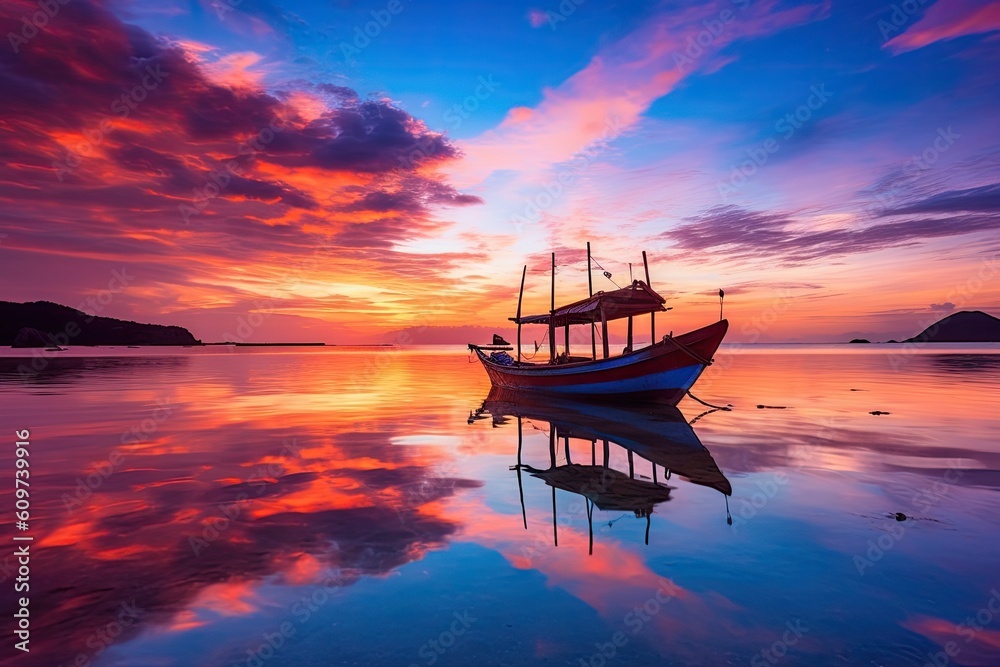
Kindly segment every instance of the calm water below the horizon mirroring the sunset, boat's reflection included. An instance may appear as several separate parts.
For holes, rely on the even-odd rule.
[[[1000,354],[943,350],[723,348],[730,412],[472,420],[456,351],[0,360],[35,539],[0,662],[994,665]]]

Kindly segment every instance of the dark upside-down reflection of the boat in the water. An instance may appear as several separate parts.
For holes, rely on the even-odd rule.
[[[517,472],[524,527],[527,529],[528,519],[522,473],[527,472],[552,487],[552,539],[557,546],[556,489],[585,498],[591,554],[594,552],[595,507],[601,511],[632,512],[636,518],[644,518],[645,541],[649,544],[654,508],[670,500],[671,492],[677,488],[666,483],[673,475],[724,494],[727,520],[732,523],[729,516],[732,485],[687,419],[672,405],[606,405],[494,387],[482,407],[470,415],[469,421],[486,415],[492,417],[494,427],[511,418],[517,420],[517,465],[511,469]],[[549,467],[546,469],[532,467],[521,460],[527,421],[548,423]],[[590,443],[589,463],[573,460],[570,440]],[[627,472],[612,467],[613,447],[625,450]],[[565,463],[557,464],[560,455]]]

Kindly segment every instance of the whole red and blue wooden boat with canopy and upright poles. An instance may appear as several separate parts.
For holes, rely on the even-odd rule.
[[[646,253],[643,252],[643,263]],[[590,265],[590,245],[587,245],[587,262]],[[541,315],[521,315],[524,296],[524,278],[521,274],[521,292],[518,296],[517,315],[510,318],[517,324],[517,357],[506,354],[513,350],[509,344],[475,345],[475,352],[486,369],[494,387],[515,391],[564,394],[602,399],[656,398],[676,403],[691,388],[702,372],[712,363],[712,358],[722,344],[729,323],[721,319],[708,326],[674,336],[656,339],[656,313],[669,310],[666,300],[649,286],[649,269],[646,281],[634,280],[627,287],[591,296],[565,306],[555,306],[555,254],[552,255],[553,288],[552,309]],[[719,296],[723,293],[720,290]],[[633,319],[650,316],[648,347],[633,349]],[[622,354],[611,356],[608,343],[608,322],[628,319],[628,340]],[[549,360],[543,363],[525,361],[521,354],[521,326],[544,324],[548,326]],[[603,357],[597,358],[596,327],[601,326]],[[570,326],[584,325],[591,329],[591,355],[570,354]],[[564,331],[564,351],[556,354],[556,330]]]

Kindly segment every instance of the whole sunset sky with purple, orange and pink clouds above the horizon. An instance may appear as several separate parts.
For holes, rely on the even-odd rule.
[[[547,311],[551,252],[586,296],[590,242],[595,290],[647,251],[658,330],[720,288],[731,342],[1000,315],[1000,3],[0,0],[0,34],[3,300],[443,342],[508,331],[522,266]]]

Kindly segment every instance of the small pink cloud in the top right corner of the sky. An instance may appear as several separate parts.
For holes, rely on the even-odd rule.
[[[896,53],[912,51],[946,39],[1000,30],[1000,4],[989,0],[939,2],[908,30],[886,46]]]

